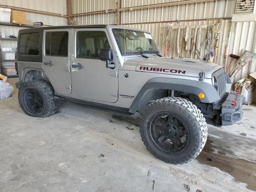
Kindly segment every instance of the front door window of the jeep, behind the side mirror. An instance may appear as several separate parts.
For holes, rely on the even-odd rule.
[[[76,58],[99,59],[100,49],[110,48],[103,31],[80,31],[76,35]]]

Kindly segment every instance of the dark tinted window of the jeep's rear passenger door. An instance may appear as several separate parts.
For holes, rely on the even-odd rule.
[[[46,32],[45,53],[50,56],[68,56],[68,32]]]

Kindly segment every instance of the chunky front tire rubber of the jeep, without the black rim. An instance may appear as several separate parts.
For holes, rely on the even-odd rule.
[[[148,133],[150,118],[158,112],[172,112],[180,116],[190,131],[188,147],[180,154],[167,154],[152,143]],[[196,158],[207,139],[207,124],[201,111],[192,102],[176,97],[166,97],[155,100],[142,112],[140,120],[140,135],[146,148],[158,159],[171,164],[184,164]]]

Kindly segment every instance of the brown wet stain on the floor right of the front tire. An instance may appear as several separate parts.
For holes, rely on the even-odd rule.
[[[252,176],[252,173],[256,173],[256,164],[243,159],[231,158],[229,156],[222,155],[221,153],[223,152],[225,154],[232,154],[233,152],[220,146],[214,146],[213,140],[214,143],[221,143],[218,139],[208,138],[206,145],[196,159],[202,164],[219,168],[220,170],[230,174],[234,177],[233,182],[246,183],[246,188],[255,190],[256,177]],[[213,153],[215,151],[214,149],[218,149],[217,154]],[[214,161],[209,160],[210,156],[214,156]]]

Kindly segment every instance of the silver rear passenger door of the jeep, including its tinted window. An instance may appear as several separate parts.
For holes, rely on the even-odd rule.
[[[72,29],[44,30],[42,68],[58,94],[71,94],[71,35]]]

